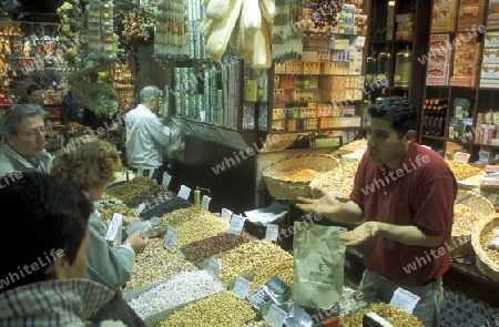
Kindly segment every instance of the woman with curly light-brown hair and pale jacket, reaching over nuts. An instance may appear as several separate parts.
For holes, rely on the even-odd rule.
[[[114,172],[121,168],[120,156],[109,142],[96,137],[85,137],[84,142],[78,144],[59,152],[51,174],[72,182],[88,194],[90,201],[99,201],[114,180]],[[144,251],[149,238],[142,238],[138,231],[123,245],[113,247],[104,238],[109,225],[96,211],[90,215],[89,224],[90,242],[84,277],[121,290],[130,279],[135,255]]]

